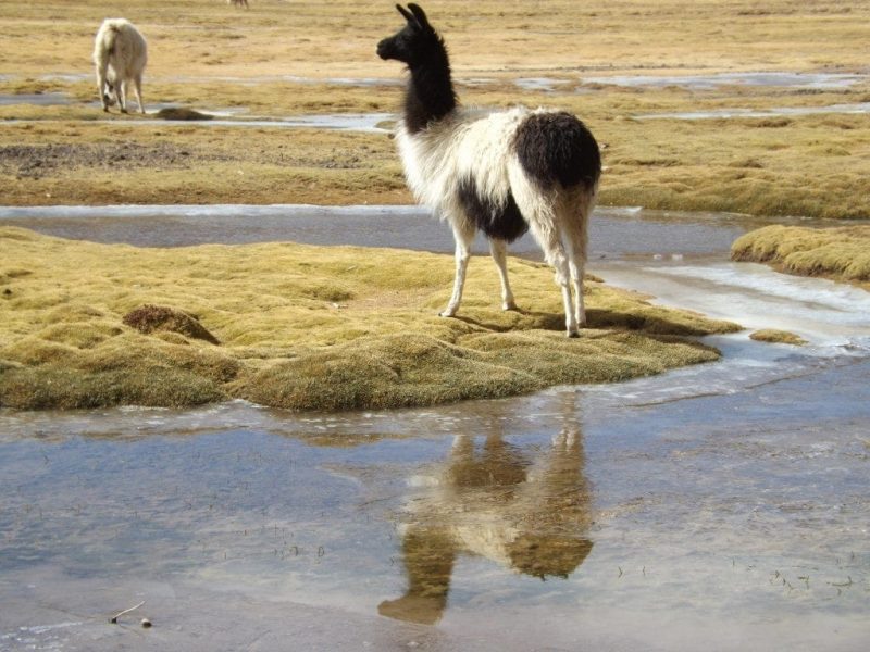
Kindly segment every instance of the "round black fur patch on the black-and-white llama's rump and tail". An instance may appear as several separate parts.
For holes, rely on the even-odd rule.
[[[517,129],[514,148],[526,174],[545,188],[558,183],[594,190],[601,176],[598,143],[570,113],[532,113]]]

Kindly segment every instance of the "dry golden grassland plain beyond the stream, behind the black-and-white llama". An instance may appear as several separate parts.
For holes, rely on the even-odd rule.
[[[396,86],[334,82],[401,78],[395,63],[374,55],[377,40],[401,22],[393,4],[252,0],[245,11],[219,0],[130,0],[124,13],[151,46],[147,104],[207,112],[244,108],[248,115],[281,116],[395,111],[401,95]],[[546,5],[485,0],[470,7],[433,0],[425,7],[447,38],[457,77],[490,80],[461,85],[465,103],[562,105],[609,145],[604,204],[870,216],[867,114],[695,122],[633,117],[867,102],[867,84],[813,91],[737,86],[699,91],[580,82],[613,74],[866,71],[868,1],[797,7],[783,0],[558,0]],[[0,5],[0,75],[11,75],[0,79],[0,92],[60,90],[75,100],[66,106],[0,108],[0,118],[30,121],[5,124],[0,151],[60,141],[105,148],[119,141],[141,148],[184,142],[190,155],[183,166],[156,162],[154,170],[135,173],[123,164],[75,168],[74,161],[73,170],[41,175],[0,165],[4,203],[411,201],[385,135],[169,127],[151,125],[152,118],[135,118],[147,126],[95,122],[104,115],[94,105],[92,35],[102,17],[115,13],[115,3],[101,0],[75,7],[58,0]],[[50,76],[60,73],[79,77]],[[513,80],[523,76],[566,84],[552,93],[522,90]]]

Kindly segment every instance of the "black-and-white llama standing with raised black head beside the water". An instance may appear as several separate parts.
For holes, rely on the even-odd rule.
[[[419,5],[396,9],[407,25],[382,40],[377,54],[410,71],[396,129],[405,176],[417,200],[450,224],[456,240],[453,292],[442,316],[459,310],[478,229],[498,267],[501,308],[517,310],[507,244],[531,229],[556,271],[568,336],[577,337],[586,321],[583,273],[587,221],[601,174],[598,143],[566,112],[461,108],[444,40]]]

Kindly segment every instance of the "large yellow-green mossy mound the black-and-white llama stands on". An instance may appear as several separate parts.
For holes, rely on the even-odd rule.
[[[460,317],[446,319],[449,255],[288,242],[140,249],[13,227],[0,227],[0,248],[5,408],[432,405],[716,360],[687,336],[738,328],[589,278],[589,327],[568,339],[551,271],[517,259],[523,310],[499,310],[495,266],[478,256]]]

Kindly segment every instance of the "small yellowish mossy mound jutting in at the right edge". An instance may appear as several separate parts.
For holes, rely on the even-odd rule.
[[[731,246],[731,258],[768,263],[788,274],[824,276],[870,289],[870,225],[766,226],[737,238]]]

